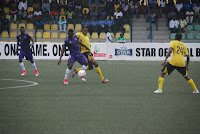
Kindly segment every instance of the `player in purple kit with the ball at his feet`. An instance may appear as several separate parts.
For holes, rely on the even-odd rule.
[[[60,65],[63,53],[65,52],[66,47],[68,47],[68,50],[70,51],[70,56],[69,56],[70,58],[68,59],[68,64],[67,64],[68,67],[66,69],[65,78],[63,81],[64,84],[68,84],[68,77],[69,77],[71,69],[74,65],[74,62],[78,61],[82,65],[82,69],[85,71],[87,70],[87,65],[88,65],[88,60],[81,53],[81,49],[80,49],[80,45],[82,45],[84,47],[86,47],[86,46],[79,43],[79,39],[76,35],[74,35],[74,31],[72,29],[69,29],[68,35],[69,36],[64,41],[60,59],[58,61],[58,65]],[[89,48],[86,47],[86,49],[89,49]],[[81,77],[81,79],[83,81],[86,81],[84,77]]]

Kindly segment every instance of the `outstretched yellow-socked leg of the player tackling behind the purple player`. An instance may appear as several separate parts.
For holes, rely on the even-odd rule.
[[[93,64],[95,66],[95,70],[97,72],[97,74],[99,75],[99,77],[101,78],[102,83],[107,83],[109,82],[108,79],[105,79],[102,75],[101,69],[99,67],[99,65],[97,64],[96,60],[94,59],[94,57],[92,56],[90,59],[90,63]]]

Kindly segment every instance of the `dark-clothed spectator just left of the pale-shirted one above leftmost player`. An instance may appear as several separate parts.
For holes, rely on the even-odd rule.
[[[17,3],[14,1],[10,4],[10,8],[9,8],[9,17],[8,20],[11,20],[11,17],[14,19],[14,23],[16,23],[17,20]]]

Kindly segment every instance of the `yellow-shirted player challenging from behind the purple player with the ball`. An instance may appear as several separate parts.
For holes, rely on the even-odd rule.
[[[85,47],[81,46],[81,52],[85,55],[85,57],[87,57],[87,59],[89,61],[89,65],[88,65],[87,70],[92,70],[93,66],[95,66],[95,70],[96,70],[97,74],[99,75],[99,77],[101,78],[102,83],[107,83],[107,82],[109,82],[109,80],[105,79],[103,77],[103,75],[101,73],[101,69],[99,68],[99,66],[98,66],[98,64],[97,64],[96,60],[94,59],[93,54],[91,52],[90,40],[87,36],[87,32],[88,32],[88,29],[84,27],[82,29],[82,32],[76,33],[77,37],[79,37],[81,39],[81,43],[89,48],[89,50],[88,50]],[[81,70],[81,68],[78,68],[78,69],[75,68],[72,76],[74,77],[75,74],[79,70]]]

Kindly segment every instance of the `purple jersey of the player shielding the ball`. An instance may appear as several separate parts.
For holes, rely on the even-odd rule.
[[[78,42],[78,37],[76,35],[74,35],[74,37],[72,39],[67,37],[65,39],[63,46],[68,47],[70,54],[81,53],[80,45],[79,45],[79,42]]]

